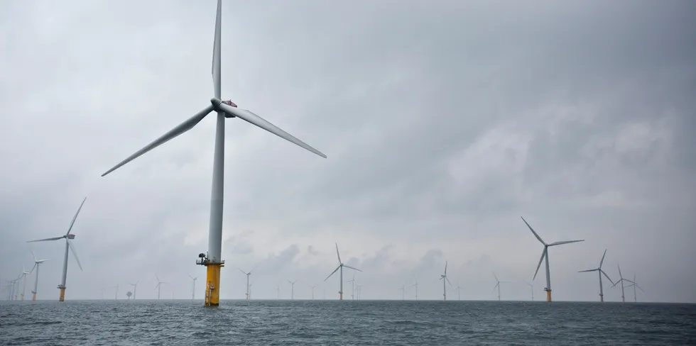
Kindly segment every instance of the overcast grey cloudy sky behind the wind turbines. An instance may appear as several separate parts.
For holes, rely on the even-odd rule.
[[[0,280],[57,299],[202,299],[214,116],[100,174],[210,105],[214,0],[0,2]],[[227,119],[221,298],[504,300],[545,242],[553,298],[696,303],[696,4],[222,1],[222,98],[327,159]],[[34,273],[26,279],[26,294]],[[279,291],[276,291],[279,289]],[[21,290],[21,286],[20,286]],[[351,295],[345,284],[346,298]],[[415,287],[406,291],[413,298]],[[619,286],[604,281],[607,301]],[[5,298],[7,291],[0,292]],[[627,300],[633,299],[631,289]]]

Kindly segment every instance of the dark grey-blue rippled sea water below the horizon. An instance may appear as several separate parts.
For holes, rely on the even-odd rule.
[[[696,305],[0,301],[0,345],[696,345]]]

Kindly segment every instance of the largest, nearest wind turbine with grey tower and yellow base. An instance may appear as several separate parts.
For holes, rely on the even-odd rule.
[[[205,306],[219,306],[219,292],[220,292],[220,268],[224,266],[224,259],[222,259],[222,206],[224,198],[224,125],[225,118],[239,118],[243,121],[256,125],[263,130],[267,130],[280,138],[290,141],[295,145],[314,152],[315,154],[325,157],[319,150],[305,144],[298,138],[293,137],[289,133],[281,130],[281,128],[276,127],[272,123],[264,120],[260,116],[257,116],[251,111],[245,109],[237,108],[236,104],[232,101],[222,101],[221,92],[221,61],[222,57],[220,52],[222,50],[222,1],[217,1],[217,15],[215,17],[215,37],[213,43],[213,56],[212,56],[212,80],[214,97],[210,99],[210,105],[203,108],[202,111],[195,114],[191,118],[176,126],[172,130],[162,135],[160,138],[154,140],[152,143],[146,145],[141,150],[138,150],[133,155],[126,158],[126,160],[121,161],[116,164],[112,169],[102,174],[102,177],[118,169],[124,164],[131,162],[131,160],[136,159],[146,152],[153,150],[155,147],[166,143],[168,140],[175,138],[187,130],[190,130],[195,125],[200,123],[200,121],[205,118],[210,112],[215,111],[217,113],[216,117],[216,128],[215,128],[215,145],[213,153],[213,167],[212,167],[212,191],[210,197],[210,224],[208,228],[208,250],[205,254],[198,255],[196,264],[203,265],[207,268],[206,279],[205,279]]]

